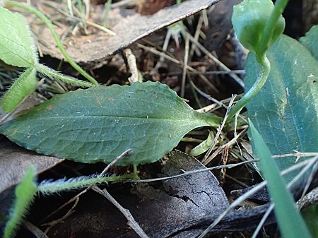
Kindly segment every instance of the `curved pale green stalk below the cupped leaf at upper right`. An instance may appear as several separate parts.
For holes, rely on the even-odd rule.
[[[264,55],[259,61],[259,66],[261,67],[261,71],[259,72],[259,76],[257,78],[257,81],[252,85],[252,88],[249,89],[247,93],[230,109],[230,112],[228,114],[227,122],[230,121],[237,112],[240,111],[245,105],[247,105],[247,102],[252,100],[252,98],[259,93],[259,90],[263,88],[264,84],[266,83],[267,78],[269,78],[269,73],[271,71],[271,64],[269,62],[269,59]]]

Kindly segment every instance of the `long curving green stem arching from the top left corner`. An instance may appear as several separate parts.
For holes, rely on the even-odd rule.
[[[71,66],[73,66],[73,68],[76,69],[76,71],[78,71],[78,73],[81,73],[82,76],[87,78],[88,81],[90,81],[94,85],[98,85],[98,81],[96,81],[95,78],[93,78],[88,73],[86,73],[86,71],[84,71],[81,68],[81,66],[76,64],[76,62],[73,61],[73,59],[71,59],[71,56],[69,56],[69,54],[67,54],[66,50],[63,47],[63,44],[61,43],[61,40],[59,40],[59,35],[57,35],[57,32],[55,31],[55,29],[53,27],[53,24],[49,20],[49,18],[47,18],[43,13],[38,11],[33,6],[30,6],[28,4],[23,4],[23,3],[20,3],[18,1],[5,1],[5,5],[6,6],[16,6],[18,8],[23,8],[23,9],[25,9],[27,11],[30,11],[30,13],[35,14],[38,18],[41,18],[44,21],[45,25],[47,25],[47,28],[49,28],[49,30],[51,31],[51,33],[52,33],[52,35],[54,37],[54,40],[57,43],[57,47],[59,47],[59,50],[61,51],[61,54],[64,55],[65,59],[69,62],[69,64],[71,64]]]

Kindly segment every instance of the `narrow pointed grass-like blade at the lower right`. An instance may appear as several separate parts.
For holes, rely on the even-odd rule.
[[[254,141],[255,150],[261,162],[261,172],[268,182],[269,193],[271,194],[273,203],[275,203],[275,215],[282,237],[310,238],[310,232],[304,220],[302,220],[300,212],[295,208],[293,196],[288,191],[275,160],[271,157],[269,148],[250,120],[249,129]]]

